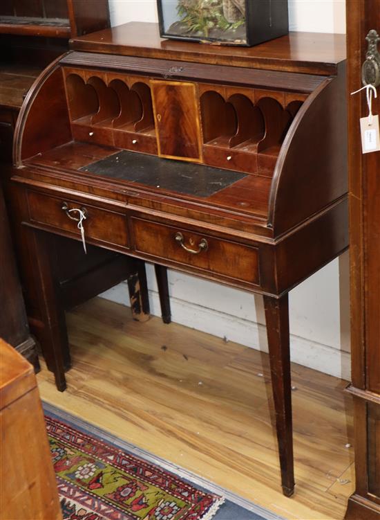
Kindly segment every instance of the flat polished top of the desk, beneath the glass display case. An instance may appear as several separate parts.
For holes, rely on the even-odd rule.
[[[155,57],[184,62],[336,74],[345,60],[345,35],[289,33],[254,47],[216,46],[162,39],[158,24],[131,22],[70,40],[78,51]]]

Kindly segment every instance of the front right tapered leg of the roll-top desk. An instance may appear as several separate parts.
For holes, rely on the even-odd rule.
[[[289,352],[289,301],[264,296],[272,391],[276,414],[276,431],[280,455],[283,494],[294,493],[294,460],[292,428],[292,386]]]

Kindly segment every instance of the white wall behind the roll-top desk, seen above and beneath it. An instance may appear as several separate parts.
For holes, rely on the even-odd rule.
[[[156,21],[155,0],[109,0],[113,26]],[[289,0],[291,30],[345,32],[344,0]],[[147,265],[151,310],[160,315],[153,267]],[[169,271],[173,321],[267,350],[263,300],[247,292]],[[104,294],[126,305],[125,284]],[[330,262],[289,296],[292,360],[350,378],[348,254]]]

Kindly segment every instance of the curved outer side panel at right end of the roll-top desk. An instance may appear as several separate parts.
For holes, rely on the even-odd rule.
[[[305,101],[278,156],[268,226],[279,236],[347,194],[344,66]]]

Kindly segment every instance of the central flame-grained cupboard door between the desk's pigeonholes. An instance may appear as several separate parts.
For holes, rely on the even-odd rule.
[[[151,82],[158,154],[182,161],[202,161],[196,85]]]

